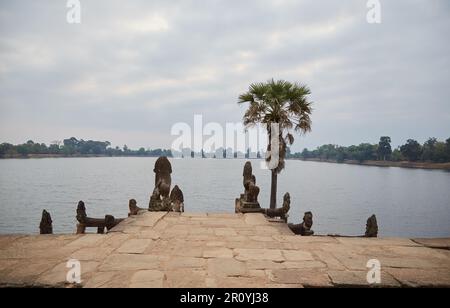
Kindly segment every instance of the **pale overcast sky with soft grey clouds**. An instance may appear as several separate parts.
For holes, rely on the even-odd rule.
[[[239,94],[306,84],[322,144],[450,137],[450,1],[0,0],[0,142],[169,148],[179,122],[237,123]]]

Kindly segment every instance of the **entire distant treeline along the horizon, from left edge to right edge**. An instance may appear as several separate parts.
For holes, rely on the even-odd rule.
[[[194,157],[194,152],[190,149],[184,149],[185,153],[176,153],[181,157]],[[232,149],[219,149],[216,153],[207,154],[203,151],[198,153],[198,157],[226,158],[230,157],[250,157],[250,149],[247,153],[232,152]],[[33,155],[54,155],[54,156],[148,156],[173,157],[171,150],[165,149],[145,149],[131,150],[126,145],[122,148],[111,147],[109,141],[93,141],[76,139],[74,137],[64,139],[61,142],[53,142],[49,146],[44,143],[35,143],[28,141],[24,144],[12,145],[9,143],[0,144],[0,157],[29,157]],[[256,157],[261,158],[264,155],[257,153]],[[436,138],[429,138],[424,144],[420,144],[416,140],[408,139],[407,142],[392,150],[391,138],[381,137],[378,144],[361,143],[360,145],[351,145],[348,147],[326,144],[315,150],[304,149],[301,153],[291,153],[287,149],[286,158],[296,159],[320,159],[335,160],[344,162],[352,161],[411,161],[411,162],[433,162],[446,163],[450,162],[450,138],[445,142],[438,141]]]

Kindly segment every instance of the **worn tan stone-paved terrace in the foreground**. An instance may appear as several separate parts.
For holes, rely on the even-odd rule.
[[[0,236],[0,286],[450,287],[450,239],[292,234],[262,214],[151,213],[105,235]],[[369,284],[369,260],[380,284]]]

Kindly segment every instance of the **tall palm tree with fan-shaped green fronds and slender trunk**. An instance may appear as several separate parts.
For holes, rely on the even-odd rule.
[[[248,92],[239,96],[238,104],[249,103],[244,114],[244,125],[263,124],[269,135],[268,152],[271,148],[271,124],[279,125],[279,163],[272,169],[270,208],[276,208],[277,176],[284,169],[287,145],[294,143],[291,131],[305,134],[311,131],[312,102],[308,100],[311,91],[306,85],[285,80],[269,80],[266,83],[253,83]],[[270,161],[270,155],[266,157]]]

